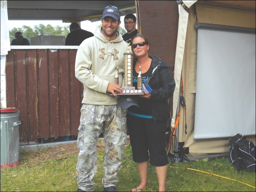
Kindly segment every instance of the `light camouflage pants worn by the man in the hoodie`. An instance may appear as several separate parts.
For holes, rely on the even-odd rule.
[[[97,173],[96,145],[102,129],[106,144],[102,184],[104,187],[116,186],[126,144],[126,112],[117,105],[83,104],[77,138],[80,151],[76,165],[80,189],[94,189],[92,180]]]

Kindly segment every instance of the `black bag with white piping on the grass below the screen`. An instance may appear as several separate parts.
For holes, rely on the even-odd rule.
[[[255,172],[255,144],[239,133],[228,141],[231,165],[238,171]]]

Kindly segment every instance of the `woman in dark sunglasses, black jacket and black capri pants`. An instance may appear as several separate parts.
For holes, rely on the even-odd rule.
[[[132,38],[133,86],[137,87],[140,73],[142,83],[152,91],[138,96],[139,107],[132,105],[127,112],[127,126],[132,145],[133,161],[137,163],[140,184],[132,191],[146,188],[148,163],[156,167],[159,191],[165,191],[168,158],[165,151],[167,119],[170,118],[168,99],[172,96],[175,81],[169,67],[157,56],[149,56],[150,44],[144,35]]]

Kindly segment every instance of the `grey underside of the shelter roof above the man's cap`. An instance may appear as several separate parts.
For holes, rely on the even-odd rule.
[[[119,8],[120,15],[136,13],[135,1],[7,1],[9,20],[99,21],[107,5]]]

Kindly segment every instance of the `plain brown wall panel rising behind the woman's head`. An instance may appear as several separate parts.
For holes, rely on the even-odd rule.
[[[156,55],[174,69],[178,36],[177,1],[139,1],[140,27],[150,43],[150,55]]]

